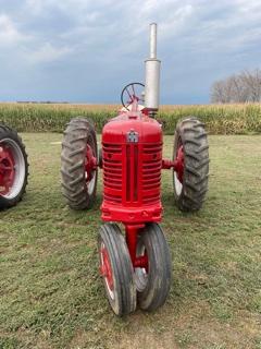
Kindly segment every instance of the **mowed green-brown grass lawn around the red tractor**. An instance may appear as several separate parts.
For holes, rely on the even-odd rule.
[[[164,171],[163,230],[173,285],[156,313],[117,318],[98,273],[97,203],[73,212],[60,189],[61,134],[22,134],[27,194],[0,213],[0,348],[261,348],[261,136],[210,136],[201,212],[174,204]],[[165,136],[165,155],[172,154]],[[101,179],[101,176],[100,176]]]

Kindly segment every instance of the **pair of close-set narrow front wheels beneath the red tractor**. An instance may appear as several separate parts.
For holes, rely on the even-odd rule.
[[[105,224],[99,234],[100,272],[109,303],[116,315],[134,312],[136,303],[146,311],[161,306],[171,287],[171,257],[164,234],[148,224],[138,234],[137,256],[148,260],[146,268],[134,268],[120,228]]]

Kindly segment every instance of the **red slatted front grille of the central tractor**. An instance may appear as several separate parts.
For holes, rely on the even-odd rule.
[[[162,145],[104,144],[104,200],[126,206],[160,201]]]

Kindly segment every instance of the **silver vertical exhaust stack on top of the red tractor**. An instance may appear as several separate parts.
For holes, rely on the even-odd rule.
[[[159,109],[160,63],[157,59],[157,24],[150,24],[150,57],[145,61],[145,107],[153,117]]]

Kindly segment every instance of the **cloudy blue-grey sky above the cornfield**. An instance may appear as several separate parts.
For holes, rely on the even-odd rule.
[[[162,104],[208,103],[215,80],[261,68],[260,0],[0,0],[0,100],[119,103],[144,81],[150,22]]]

